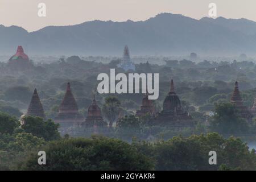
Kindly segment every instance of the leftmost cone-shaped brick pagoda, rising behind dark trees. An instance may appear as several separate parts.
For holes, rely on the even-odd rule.
[[[26,115],[30,115],[33,117],[41,117],[43,119],[46,119],[46,115],[44,114],[44,109],[36,89],[34,90],[34,93],[32,95],[30,105],[28,106]]]

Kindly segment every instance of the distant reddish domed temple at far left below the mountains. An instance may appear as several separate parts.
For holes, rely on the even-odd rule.
[[[22,46],[18,46],[15,55],[11,56],[7,63],[7,67],[10,68],[11,71],[26,71],[33,66],[28,56],[24,53]]]

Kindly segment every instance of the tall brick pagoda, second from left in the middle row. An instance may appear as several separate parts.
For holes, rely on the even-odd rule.
[[[59,107],[59,114],[55,117],[55,122],[60,123],[61,127],[71,127],[79,125],[82,121],[84,121],[84,117],[79,113],[75,97],[68,82],[65,96]]]

